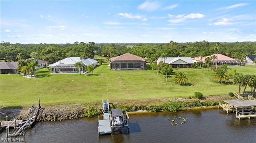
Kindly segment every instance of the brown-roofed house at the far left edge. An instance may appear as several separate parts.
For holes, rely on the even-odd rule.
[[[18,69],[18,62],[0,62],[1,74],[16,74]]]

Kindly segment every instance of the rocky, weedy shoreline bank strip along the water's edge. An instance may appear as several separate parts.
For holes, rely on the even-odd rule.
[[[121,108],[128,114],[141,112],[177,112],[193,108],[216,107],[219,102],[231,99],[229,95],[209,96],[202,99],[168,98],[134,102],[110,102],[111,108]],[[26,119],[28,108],[1,108],[1,121],[11,119]],[[66,119],[88,118],[102,115],[102,105],[99,104],[62,104],[44,106],[39,112],[37,121],[62,121]]]

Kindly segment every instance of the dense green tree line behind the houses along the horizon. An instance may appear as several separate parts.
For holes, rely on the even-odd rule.
[[[218,46],[217,46],[218,45]],[[256,55],[256,42],[219,43],[196,41],[194,43],[137,43],[115,44],[94,42],[74,42],[73,44],[20,44],[0,43],[0,59],[18,61],[20,59],[40,59],[55,63],[66,57],[94,58],[95,55],[104,55],[108,58],[131,53],[147,58],[147,61],[156,61],[159,57],[205,57],[212,54],[222,54],[240,61],[245,55]]]

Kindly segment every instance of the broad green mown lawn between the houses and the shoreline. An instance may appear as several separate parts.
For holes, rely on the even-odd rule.
[[[149,68],[150,66],[147,65]],[[256,74],[256,67],[232,67],[237,72]],[[189,80],[186,86],[175,83],[174,72],[184,71]],[[1,106],[30,107],[42,105],[99,103],[102,99],[111,102],[176,98],[193,96],[202,92],[204,96],[222,95],[238,92],[238,87],[229,83],[218,83],[212,78],[209,69],[174,69],[166,82],[165,75],[157,71],[110,71],[108,63],[94,69],[90,76],[80,74],[50,74],[48,69],[36,71],[36,78],[24,78],[17,74],[0,75]],[[242,88],[243,90],[244,88]],[[247,88],[246,91],[250,91]]]

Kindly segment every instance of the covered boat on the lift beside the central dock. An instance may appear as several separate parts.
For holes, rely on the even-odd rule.
[[[112,109],[111,116],[114,128],[124,127],[124,114],[121,109]]]

